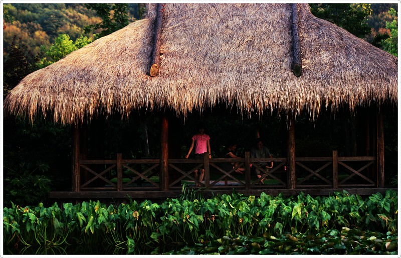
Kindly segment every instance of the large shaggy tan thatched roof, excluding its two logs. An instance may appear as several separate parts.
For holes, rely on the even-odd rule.
[[[160,75],[149,77],[149,16],[24,78],[5,111],[80,123],[102,110],[177,114],[235,106],[245,114],[397,101],[397,58],[298,4],[302,75],[291,72],[291,4],[166,4]],[[152,11],[153,10],[153,11]]]

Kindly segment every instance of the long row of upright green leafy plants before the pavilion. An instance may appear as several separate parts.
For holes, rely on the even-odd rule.
[[[397,212],[397,192],[392,190],[387,190],[384,196],[377,193],[365,200],[346,191],[335,192],[329,197],[311,197],[301,193],[289,198],[265,193],[256,198],[234,191],[232,195],[210,199],[173,198],[160,204],[133,200],[118,207],[99,201],[75,205],[64,203],[63,208],[57,203],[48,208],[41,203],[37,207],[13,204],[11,208],[4,208],[3,221],[7,245],[20,242],[42,246],[84,243],[132,248],[143,243],[205,244],[222,237],[230,240],[243,235],[258,237],[259,245],[268,246],[271,241],[277,242],[270,236],[287,237],[297,242],[293,237],[299,239],[314,235],[313,238],[325,236],[329,239],[330,235],[337,236],[341,232],[346,238],[347,234],[355,232],[352,235],[361,240],[367,237],[374,240],[372,236],[380,238],[381,246],[387,241],[383,234],[393,235],[397,231]],[[370,233],[373,231],[377,233]],[[396,243],[395,238],[388,239],[393,241],[390,244]],[[346,242],[343,237],[332,239],[332,242],[339,244],[340,240]],[[354,240],[349,242],[353,247]],[[220,244],[224,242],[227,247],[228,242],[222,241]],[[247,243],[246,239],[241,240],[244,241]],[[322,241],[326,243],[324,239]],[[375,242],[372,241],[369,248]],[[273,246],[280,249],[275,243]],[[293,252],[295,248],[291,245],[285,251]],[[315,253],[322,251],[313,249],[313,246],[305,248],[312,248]],[[342,247],[340,249],[345,251]],[[389,251],[389,248],[381,247],[380,250]],[[229,249],[226,251],[230,252]]]

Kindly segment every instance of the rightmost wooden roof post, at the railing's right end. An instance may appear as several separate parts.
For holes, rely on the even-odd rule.
[[[384,118],[383,110],[377,111],[377,183],[384,188]]]

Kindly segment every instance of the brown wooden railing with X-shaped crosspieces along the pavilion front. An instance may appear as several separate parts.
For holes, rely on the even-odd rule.
[[[376,187],[375,157],[298,157],[296,161],[296,188],[346,188]],[[238,163],[237,167],[230,165]],[[273,162],[273,168],[261,164]],[[168,159],[168,189],[182,188],[183,183],[201,184],[207,188],[238,189],[285,189],[288,170],[286,158],[251,158],[249,152],[244,158]],[[117,159],[80,160],[80,190],[160,190],[160,159]],[[242,174],[235,170],[245,168]],[[254,169],[264,173],[257,178]],[[205,169],[205,177],[199,182],[195,170]],[[260,181],[264,180],[264,184]]]

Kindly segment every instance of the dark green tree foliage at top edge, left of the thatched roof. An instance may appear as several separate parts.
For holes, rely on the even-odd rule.
[[[85,33],[102,29],[95,39],[109,35],[128,25],[128,4],[85,4],[85,7],[96,11],[102,22],[85,27]]]

